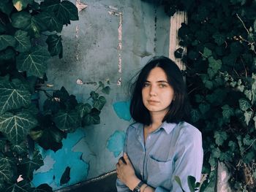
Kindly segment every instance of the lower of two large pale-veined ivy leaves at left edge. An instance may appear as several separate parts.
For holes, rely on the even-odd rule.
[[[0,131],[14,145],[20,144],[29,134],[29,130],[37,126],[37,120],[27,112],[10,112],[0,116]]]

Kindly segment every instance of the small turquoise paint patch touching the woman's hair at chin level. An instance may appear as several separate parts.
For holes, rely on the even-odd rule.
[[[129,113],[129,105],[131,101],[120,101],[113,104],[113,108],[119,118],[124,120],[131,120],[131,115]]]

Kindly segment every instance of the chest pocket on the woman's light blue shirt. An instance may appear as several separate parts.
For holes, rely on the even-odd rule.
[[[173,176],[173,160],[161,161],[154,158],[153,155],[149,155],[147,171],[148,185],[170,188],[171,178]]]

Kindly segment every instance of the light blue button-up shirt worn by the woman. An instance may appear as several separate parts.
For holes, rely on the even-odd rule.
[[[181,191],[174,180],[176,175],[187,192],[187,176],[192,175],[200,181],[202,135],[189,123],[164,122],[148,134],[145,145],[143,124],[133,123],[127,128],[124,152],[129,156],[137,177],[155,188],[155,192]],[[118,192],[130,191],[120,180],[116,180],[116,188]]]

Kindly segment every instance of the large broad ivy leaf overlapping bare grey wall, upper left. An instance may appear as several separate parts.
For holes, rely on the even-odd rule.
[[[30,53],[20,53],[17,56],[17,68],[21,72],[26,71],[28,76],[34,75],[42,78],[47,69],[48,58],[50,58],[50,54],[45,47],[33,47]]]

